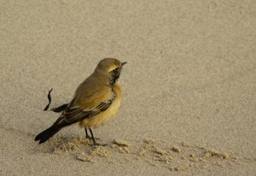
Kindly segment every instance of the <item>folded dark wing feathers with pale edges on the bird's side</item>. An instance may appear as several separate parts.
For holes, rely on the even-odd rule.
[[[55,127],[63,128],[67,125],[71,125],[76,122],[80,122],[85,118],[90,118],[92,116],[96,116],[102,111],[106,111],[108,107],[113,103],[115,99],[115,95],[113,95],[112,99],[108,99],[107,101],[102,102],[97,105],[95,108],[90,110],[80,109],[78,106],[73,105],[73,101],[67,106],[66,110],[63,111],[61,116],[56,120]]]

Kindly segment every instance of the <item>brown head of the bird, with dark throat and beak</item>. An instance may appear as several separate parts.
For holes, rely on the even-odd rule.
[[[122,67],[126,63],[113,58],[105,58],[99,62],[96,71],[108,76],[109,82],[113,84],[118,81]]]

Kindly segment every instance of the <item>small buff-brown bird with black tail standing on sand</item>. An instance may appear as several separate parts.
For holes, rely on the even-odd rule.
[[[79,126],[84,128],[85,137],[92,139],[93,145],[99,145],[92,129],[104,125],[116,116],[122,100],[118,80],[126,63],[113,58],[101,60],[90,77],[79,84],[73,99],[65,106],[61,116],[52,126],[38,133],[35,141],[43,144],[62,128],[79,123]],[[90,130],[91,137],[87,129]]]

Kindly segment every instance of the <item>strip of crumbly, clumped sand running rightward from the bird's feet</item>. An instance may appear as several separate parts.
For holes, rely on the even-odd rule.
[[[207,168],[210,165],[226,167],[228,164],[230,164],[229,166],[235,163],[241,164],[245,160],[244,157],[242,160],[231,155],[231,151],[209,150],[201,146],[190,145],[188,142],[166,148],[166,143],[160,145],[154,139],[149,138],[138,143],[132,143],[132,141],[125,139],[115,139],[111,145],[94,147],[91,147],[91,141],[84,139],[84,137],[64,139],[57,136],[50,142],[52,144],[49,146],[49,150],[59,155],[72,155],[74,159],[82,162],[107,160],[109,163],[125,164],[143,161],[151,167],[167,167],[177,172]],[[224,161],[228,158],[230,158],[230,162]],[[256,160],[252,157],[248,161],[255,162]]]

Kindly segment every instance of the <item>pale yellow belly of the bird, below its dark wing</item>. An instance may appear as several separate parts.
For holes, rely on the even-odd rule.
[[[120,104],[121,99],[119,96],[117,96],[116,99],[114,99],[112,105],[110,105],[106,111],[102,111],[96,116],[84,119],[82,122],[79,122],[80,127],[98,128],[104,125],[106,122],[110,121],[116,116]]]

